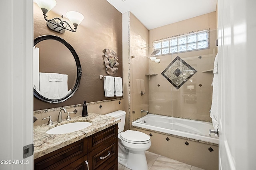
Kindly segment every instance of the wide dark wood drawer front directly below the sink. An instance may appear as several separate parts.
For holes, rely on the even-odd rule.
[[[82,139],[34,160],[34,170],[60,170],[88,153],[88,139]]]

